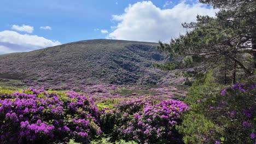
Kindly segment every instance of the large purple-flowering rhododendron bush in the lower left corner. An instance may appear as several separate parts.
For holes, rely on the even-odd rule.
[[[100,111],[75,92],[51,93],[28,88],[0,95],[1,143],[52,143],[73,138],[88,143],[101,133]]]

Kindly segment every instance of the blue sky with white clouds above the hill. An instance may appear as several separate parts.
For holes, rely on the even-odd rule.
[[[0,55],[79,40],[168,42],[218,9],[198,0],[0,0]]]

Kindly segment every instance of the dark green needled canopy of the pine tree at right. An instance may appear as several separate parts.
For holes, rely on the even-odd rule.
[[[252,74],[256,68],[256,1],[200,2],[220,9],[216,17],[198,15],[197,22],[182,23],[187,33],[171,39],[169,44],[159,42],[159,49],[174,58],[190,56],[197,68],[204,70],[229,61],[234,74],[236,68]]]

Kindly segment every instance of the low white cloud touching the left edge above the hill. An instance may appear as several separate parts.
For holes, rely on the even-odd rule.
[[[20,34],[14,31],[0,32],[0,54],[32,51],[60,44],[59,41],[49,40],[37,35]]]

